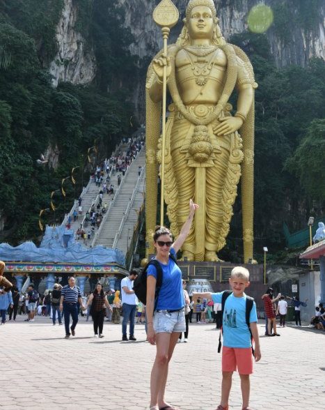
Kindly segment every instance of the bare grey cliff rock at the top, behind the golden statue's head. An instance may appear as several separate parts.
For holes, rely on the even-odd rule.
[[[175,6],[180,10],[181,18],[188,0],[173,0]],[[152,11],[159,3],[159,0],[117,0],[125,9],[125,26],[129,27],[136,39],[130,46],[132,54],[138,56],[152,56],[162,48],[160,29],[152,20]],[[248,30],[246,24],[249,10],[260,0],[216,0],[216,9],[220,19],[219,25],[226,39],[232,34],[243,33]],[[271,8],[276,6],[278,0],[265,0],[263,3]],[[289,2],[290,10],[293,14],[298,13],[294,1]],[[281,40],[274,26],[267,31],[267,36],[271,44],[271,52],[274,55],[278,67],[289,64],[299,64],[306,66],[311,56],[325,59],[325,33],[324,17],[325,7],[320,6],[319,22],[313,26],[313,31],[304,30],[301,26],[287,22],[287,31],[290,31],[290,41],[285,43]],[[172,29],[171,42],[174,42],[180,33],[181,21]]]

